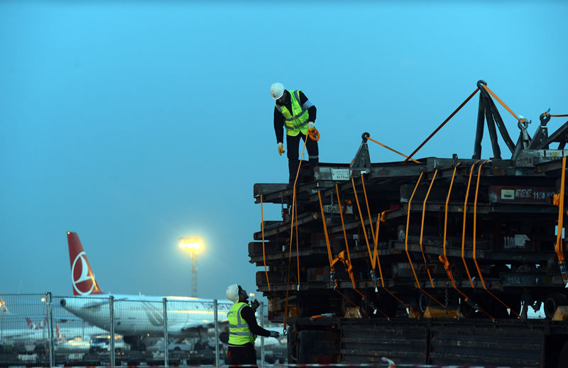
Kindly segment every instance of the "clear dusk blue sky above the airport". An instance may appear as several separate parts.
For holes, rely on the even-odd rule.
[[[479,79],[532,135],[568,113],[567,18],[566,1],[1,1],[0,293],[72,294],[67,230],[107,292],[189,295],[189,236],[199,296],[254,291],[253,184],[288,179],[273,82],[317,106],[322,162],[365,131],[409,154]],[[477,104],[416,157],[471,157]]]

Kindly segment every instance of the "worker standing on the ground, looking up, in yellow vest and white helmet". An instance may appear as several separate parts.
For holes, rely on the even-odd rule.
[[[226,297],[234,304],[227,313],[229,320],[229,364],[256,364],[254,340],[257,335],[278,338],[277,331],[261,328],[256,323],[256,299],[249,306],[249,295],[237,284],[226,288]]]

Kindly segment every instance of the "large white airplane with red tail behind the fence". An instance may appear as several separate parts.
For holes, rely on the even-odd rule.
[[[75,316],[104,330],[110,330],[109,296],[114,296],[114,332],[129,345],[149,346],[163,336],[162,296],[104,294],[99,287],[77,233],[67,232],[71,281],[74,297],[61,299],[60,305]],[[214,327],[212,299],[168,296],[168,336],[195,337]],[[227,322],[232,303],[219,303],[219,322]]]

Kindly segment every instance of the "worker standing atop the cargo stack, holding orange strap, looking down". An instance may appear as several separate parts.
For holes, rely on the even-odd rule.
[[[308,161],[312,175],[315,167],[320,164],[319,149],[317,141],[307,139],[307,134],[315,130],[316,108],[307,99],[302,90],[288,91],[284,89],[282,83],[274,83],[271,86],[271,96],[275,99],[274,106],[274,132],[278,143],[278,153],[284,153],[283,148],[283,128],[286,129],[286,147],[288,148],[288,171],[290,176],[288,182],[293,184],[300,160],[298,160],[298,148],[300,138],[306,142],[307,154],[310,156]]]

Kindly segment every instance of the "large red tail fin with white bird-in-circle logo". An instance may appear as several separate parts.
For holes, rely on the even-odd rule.
[[[67,243],[69,244],[69,260],[71,263],[71,280],[74,295],[103,294],[99,283],[94,277],[91,264],[87,260],[81,240],[77,233],[67,231]]]

